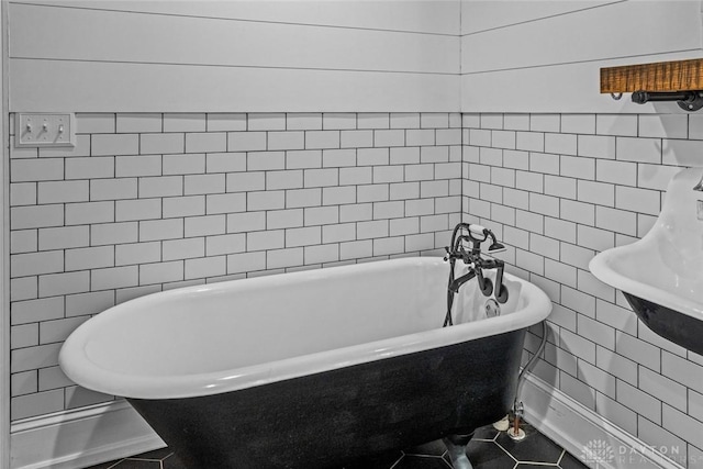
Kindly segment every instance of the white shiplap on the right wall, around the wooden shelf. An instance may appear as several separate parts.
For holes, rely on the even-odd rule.
[[[684,112],[600,94],[600,69],[703,57],[701,1],[461,5],[462,112]]]

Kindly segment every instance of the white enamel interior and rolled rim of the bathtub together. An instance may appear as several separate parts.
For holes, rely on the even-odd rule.
[[[448,269],[439,258],[409,258],[157,293],[88,321],[59,360],[69,378],[97,391],[196,395],[449,345],[526,321],[510,320],[529,303],[513,278],[505,280],[512,294],[501,316],[442,331]],[[457,295],[455,324],[486,317],[476,284]]]

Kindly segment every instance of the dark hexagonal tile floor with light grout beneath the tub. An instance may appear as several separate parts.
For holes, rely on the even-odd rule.
[[[585,469],[578,458],[556,443],[524,424],[525,439],[515,442],[492,426],[479,428],[469,443],[467,454],[473,469],[560,468]],[[88,469],[186,469],[168,449],[92,466]],[[345,469],[450,469],[451,462],[442,442],[428,443],[404,451],[394,451],[359,461]],[[214,468],[213,468],[214,469]],[[232,468],[236,469],[236,468]],[[265,468],[261,468],[265,469]]]

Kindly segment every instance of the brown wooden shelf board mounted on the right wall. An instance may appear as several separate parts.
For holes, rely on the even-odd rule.
[[[703,58],[601,68],[601,93],[703,90]]]

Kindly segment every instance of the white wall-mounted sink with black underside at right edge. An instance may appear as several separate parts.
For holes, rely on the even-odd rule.
[[[657,222],[641,239],[596,255],[591,272],[622,290],[655,333],[703,355],[703,168],[669,182]]]

